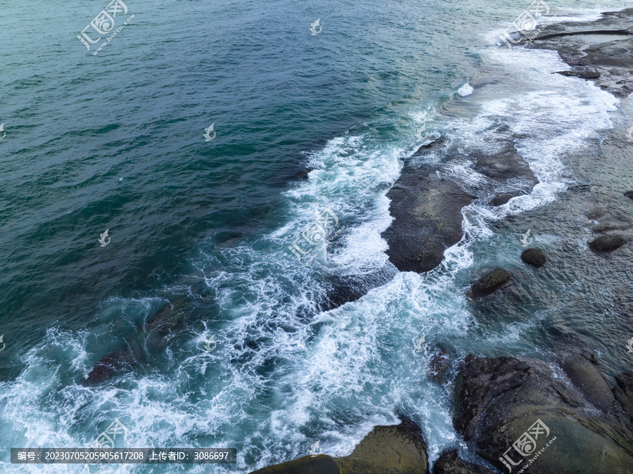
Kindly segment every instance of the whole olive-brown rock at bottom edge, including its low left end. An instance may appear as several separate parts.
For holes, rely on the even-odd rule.
[[[418,425],[376,426],[350,456],[304,456],[250,474],[428,474],[426,444]]]

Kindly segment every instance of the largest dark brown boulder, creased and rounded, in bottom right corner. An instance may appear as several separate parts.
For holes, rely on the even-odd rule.
[[[574,383],[539,360],[466,357],[454,385],[457,433],[503,472],[632,473],[630,422],[596,365],[572,355],[563,366]]]

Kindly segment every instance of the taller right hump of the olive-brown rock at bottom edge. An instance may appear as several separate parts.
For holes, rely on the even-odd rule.
[[[336,459],[345,474],[427,474],[426,443],[418,425],[376,426],[352,451]]]

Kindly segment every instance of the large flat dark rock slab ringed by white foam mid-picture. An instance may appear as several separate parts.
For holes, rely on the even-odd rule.
[[[461,240],[461,208],[473,200],[452,181],[427,174],[428,169],[405,168],[387,194],[395,219],[383,237],[389,260],[400,271],[437,267],[444,251]]]

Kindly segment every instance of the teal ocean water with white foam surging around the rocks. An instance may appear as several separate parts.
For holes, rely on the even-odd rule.
[[[562,0],[551,21],[629,3]],[[84,447],[116,418],[134,447],[236,447],[238,462],[110,472],[247,473],[316,441],[346,455],[397,414],[434,461],[459,445],[452,388],[427,374],[437,346],[546,359],[582,341],[608,376],[628,369],[631,255],[587,251],[587,189],[633,218],[609,194],[632,170],[599,167],[631,106],[553,75],[568,66],[551,51],[495,45],[529,4],[129,0],[116,25],[134,18],[97,55],[77,35],[107,2],[7,6],[2,470],[84,472],[12,465],[8,448]],[[475,201],[440,267],[398,272],[381,232],[403,160],[445,136],[461,155],[425,160],[477,186],[468,150],[494,151],[500,126],[540,183],[500,207]],[[289,247],[326,210],[327,251],[298,261]],[[518,260],[528,229],[551,261],[539,274]],[[497,266],[518,277],[511,291],[468,300]],[[366,295],[324,310],[341,284]],[[181,319],[157,340],[146,321],[168,302]],[[85,382],[128,347],[131,367]]]

